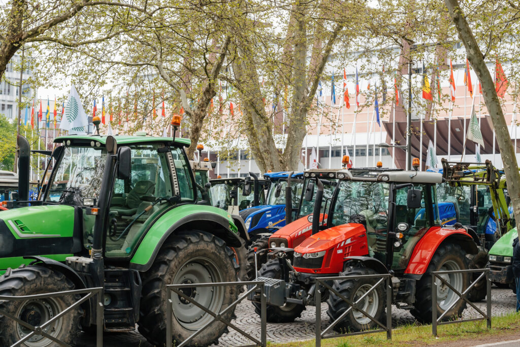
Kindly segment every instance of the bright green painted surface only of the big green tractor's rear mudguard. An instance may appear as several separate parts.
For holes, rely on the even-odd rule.
[[[139,265],[148,264],[152,260],[152,257],[155,256],[154,252],[156,249],[160,248],[162,242],[164,242],[164,236],[168,234],[168,230],[181,219],[189,219],[190,216],[192,216],[196,221],[204,222],[207,216],[210,215],[217,215],[220,219],[224,218],[229,223],[227,226],[229,230],[235,234],[238,233],[237,227],[233,224],[233,219],[222,209],[207,205],[180,205],[163,214],[159,220],[151,226],[139,244],[131,263]],[[207,231],[211,232],[211,230]]]

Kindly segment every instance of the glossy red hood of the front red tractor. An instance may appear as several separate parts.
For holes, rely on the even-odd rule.
[[[294,248],[298,253],[316,253],[330,248],[343,250],[351,243],[357,243],[358,239],[366,239],[365,226],[358,223],[348,223],[322,230],[309,236],[300,246]],[[365,249],[363,252],[367,252]]]

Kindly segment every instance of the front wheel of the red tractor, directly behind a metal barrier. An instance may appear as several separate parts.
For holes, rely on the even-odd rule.
[[[377,274],[370,268],[365,267],[348,267],[340,276],[362,276]],[[361,279],[343,279],[335,280],[332,288],[340,292],[345,298],[352,302],[356,302],[363,294],[365,294],[378,281],[377,278],[361,278]],[[385,307],[384,282],[372,290],[363,300],[362,309],[370,314],[379,322],[382,322]],[[327,314],[331,320],[340,317],[350,305],[343,301],[334,292],[329,292],[329,299],[327,300],[329,309]],[[360,303],[361,304],[361,303]],[[357,310],[350,310],[347,315],[334,326],[337,332],[355,332],[378,327],[371,318]]]

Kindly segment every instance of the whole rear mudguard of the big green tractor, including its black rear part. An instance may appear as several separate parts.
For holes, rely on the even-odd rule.
[[[207,205],[180,205],[150,227],[130,261],[130,269],[147,271],[164,241],[177,230],[202,230],[223,239],[228,246],[241,246],[238,229],[226,211]]]

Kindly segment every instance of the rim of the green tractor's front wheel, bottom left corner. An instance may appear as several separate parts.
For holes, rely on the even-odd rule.
[[[60,312],[61,310],[58,302],[54,298],[46,298],[24,301],[22,305],[20,305],[16,316],[23,322],[38,327],[45,324],[45,322],[52,319]],[[42,328],[42,331],[50,336],[57,337],[61,332],[62,323],[63,317],[58,318],[57,320],[54,320],[53,323]],[[23,339],[32,332],[31,329],[28,329],[21,324],[16,325],[16,331],[20,339]],[[24,343],[31,347],[43,347],[54,342],[43,335],[34,334]]]

